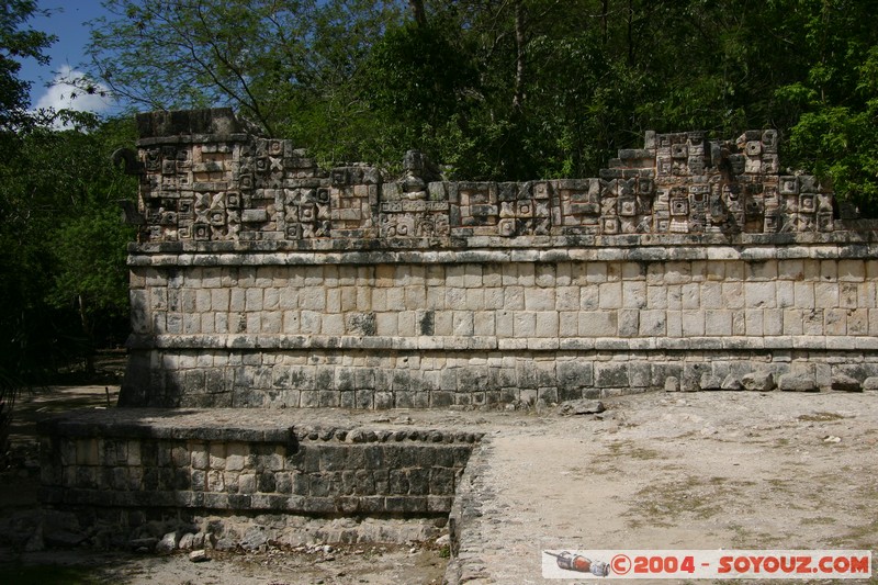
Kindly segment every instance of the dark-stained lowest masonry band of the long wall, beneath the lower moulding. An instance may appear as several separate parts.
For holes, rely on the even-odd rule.
[[[753,350],[600,352],[469,352],[457,358],[378,352],[345,361],[325,353],[289,351],[215,352],[211,364],[191,351],[150,352],[149,381],[142,396],[150,406],[447,408],[547,404],[609,397],[662,389],[669,378],[688,390],[719,390],[732,375],[754,371],[806,376],[830,389],[845,375],[878,375],[869,351]],[[202,360],[200,363],[196,360]],[[299,361],[300,364],[292,364]],[[320,363],[316,363],[320,362]],[[142,381],[146,382],[146,381]]]

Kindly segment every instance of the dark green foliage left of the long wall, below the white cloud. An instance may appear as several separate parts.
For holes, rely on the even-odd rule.
[[[86,125],[21,131],[0,162],[0,370],[15,385],[42,383],[70,359],[88,363],[95,334],[127,311],[133,234],[115,201],[136,184],[110,154],[133,142],[133,123],[75,117]]]

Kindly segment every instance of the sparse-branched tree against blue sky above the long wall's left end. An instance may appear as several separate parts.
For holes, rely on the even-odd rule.
[[[232,105],[267,133],[290,104],[342,85],[389,22],[368,0],[109,0],[92,29],[92,74],[147,109]]]

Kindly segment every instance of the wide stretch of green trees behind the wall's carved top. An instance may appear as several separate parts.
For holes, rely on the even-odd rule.
[[[92,49],[130,99],[233,104],[326,164],[419,148],[457,177],[582,177],[645,130],[776,127],[785,161],[867,200],[871,4],[109,0]]]

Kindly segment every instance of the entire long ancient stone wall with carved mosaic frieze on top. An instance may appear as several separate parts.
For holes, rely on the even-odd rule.
[[[138,116],[122,404],[444,407],[878,372],[871,232],[777,134],[648,134],[599,178],[323,171],[227,111]],[[733,385],[733,384],[732,384]]]

